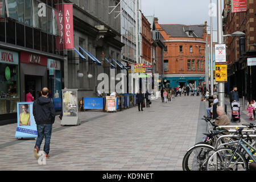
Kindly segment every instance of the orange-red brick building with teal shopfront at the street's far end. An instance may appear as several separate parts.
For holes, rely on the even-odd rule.
[[[156,30],[164,38],[164,85],[166,87],[193,84],[205,80],[205,45],[207,29],[198,25],[159,24]]]

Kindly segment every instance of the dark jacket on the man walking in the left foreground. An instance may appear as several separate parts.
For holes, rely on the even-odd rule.
[[[36,125],[53,124],[55,109],[52,101],[46,97],[39,97],[33,104],[33,115]]]

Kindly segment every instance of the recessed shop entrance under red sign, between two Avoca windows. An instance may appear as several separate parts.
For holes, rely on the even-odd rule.
[[[44,86],[47,86],[47,57],[20,52],[20,100],[26,102],[29,90],[34,99],[40,97]]]

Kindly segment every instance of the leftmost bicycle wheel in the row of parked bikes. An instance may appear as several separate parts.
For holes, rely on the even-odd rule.
[[[213,150],[214,148],[207,144],[198,144],[190,148],[183,158],[183,171],[204,171],[205,163]]]

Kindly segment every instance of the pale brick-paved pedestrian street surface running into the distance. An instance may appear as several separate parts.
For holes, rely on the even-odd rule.
[[[1,126],[0,170],[182,170],[196,142],[200,98],[156,100],[141,112],[80,112],[80,126],[60,126],[56,117],[46,165],[34,159],[34,139],[14,140],[16,124]]]

